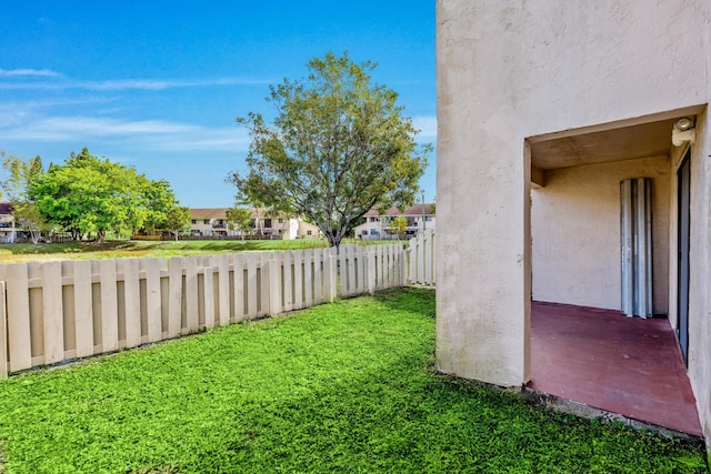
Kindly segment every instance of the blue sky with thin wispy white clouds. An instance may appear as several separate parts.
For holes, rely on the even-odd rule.
[[[434,2],[7,2],[0,14],[0,150],[62,162],[83,147],[168,180],[181,204],[233,203],[248,112],[269,84],[328,51],[378,62],[373,79],[435,141]],[[434,199],[434,155],[421,181]]]

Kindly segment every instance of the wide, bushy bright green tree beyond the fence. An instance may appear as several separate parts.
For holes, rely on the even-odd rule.
[[[99,159],[87,148],[72,152],[61,165],[50,165],[33,180],[30,195],[49,222],[74,239],[96,233],[99,241],[109,231],[120,235],[149,219],[164,220],[157,213],[166,212],[167,204],[156,202],[174,201],[167,182],[150,181],[134,168]]]

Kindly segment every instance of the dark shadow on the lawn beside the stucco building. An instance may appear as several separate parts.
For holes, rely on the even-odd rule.
[[[420,319],[433,315],[430,290],[387,291],[373,299],[385,312],[392,306],[403,317],[408,312]],[[517,394],[439,375],[432,370],[431,341],[398,343],[407,337],[380,326],[378,317],[372,323],[387,346],[375,351],[378,360],[343,364],[330,380],[286,396],[233,405],[224,413],[224,442],[181,468],[702,472],[698,446],[624,426],[561,417]],[[407,332],[407,325],[399,331]],[[351,350],[357,347],[354,343]],[[204,458],[211,464],[203,464]]]

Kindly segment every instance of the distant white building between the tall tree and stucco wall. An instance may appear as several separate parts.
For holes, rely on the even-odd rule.
[[[425,229],[434,230],[434,204],[415,204],[401,212],[393,205],[384,214],[380,214],[375,209],[371,209],[363,215],[365,222],[356,226],[356,239],[397,239],[398,235],[392,230],[391,222],[398,216],[403,216],[408,220],[408,238],[417,235]]]

